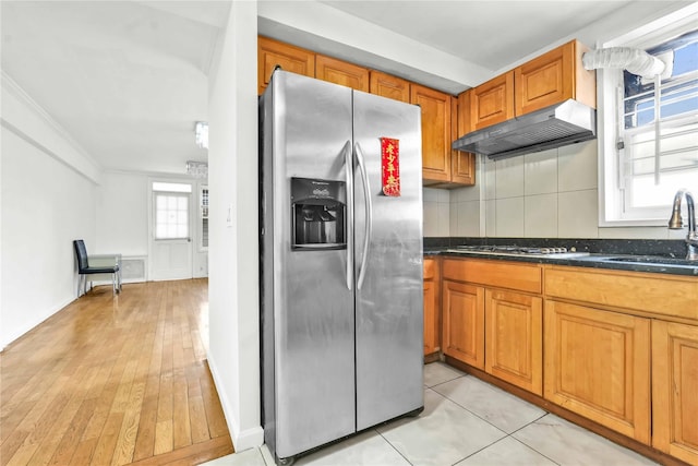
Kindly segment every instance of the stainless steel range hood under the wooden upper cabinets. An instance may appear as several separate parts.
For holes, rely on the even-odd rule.
[[[569,99],[466,134],[455,141],[452,147],[498,159],[594,138],[597,110]]]

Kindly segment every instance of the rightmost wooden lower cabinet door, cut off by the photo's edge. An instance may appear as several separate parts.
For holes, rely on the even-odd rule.
[[[698,464],[698,326],[652,321],[652,446]]]

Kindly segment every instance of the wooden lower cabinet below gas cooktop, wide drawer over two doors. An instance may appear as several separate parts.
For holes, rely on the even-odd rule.
[[[444,354],[540,395],[541,267],[444,259],[442,276]]]

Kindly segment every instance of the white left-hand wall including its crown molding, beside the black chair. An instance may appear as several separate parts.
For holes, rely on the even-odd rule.
[[[75,299],[99,165],[2,73],[0,348]]]

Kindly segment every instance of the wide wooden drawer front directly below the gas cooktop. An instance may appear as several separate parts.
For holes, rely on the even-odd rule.
[[[444,278],[488,285],[496,288],[518,289],[540,294],[541,267],[537,264],[489,261],[477,259],[446,259]]]

